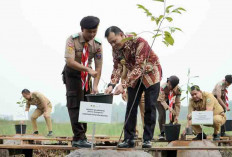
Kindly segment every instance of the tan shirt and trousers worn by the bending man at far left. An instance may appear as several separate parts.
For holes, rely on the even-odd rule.
[[[51,122],[51,112],[52,104],[43,94],[39,92],[32,92],[31,99],[27,100],[26,110],[30,109],[31,105],[36,105],[36,109],[31,116],[32,128],[34,131],[38,131],[36,119],[45,112],[45,107],[47,108],[47,115],[44,116],[48,130],[52,131],[52,122]]]

